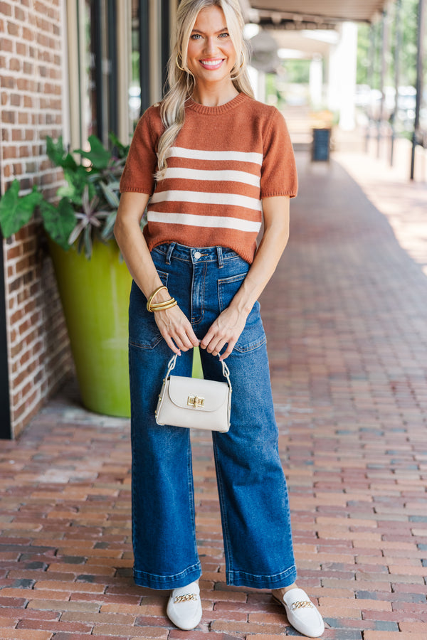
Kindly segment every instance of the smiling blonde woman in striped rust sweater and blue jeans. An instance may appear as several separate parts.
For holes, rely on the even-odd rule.
[[[231,428],[213,433],[227,582],[270,588],[296,629],[320,636],[322,618],[295,585],[257,302],[288,241],[289,199],[297,191],[292,146],[280,112],[253,99],[238,0],[182,0],[176,19],[171,88],[139,120],[115,225],[134,280],[135,582],[172,590],[167,614],[176,626],[199,624],[189,430],[154,420],[172,352],[181,356],[176,375],[191,375],[191,349],[199,346],[205,377],[222,380],[227,359],[233,383]]]

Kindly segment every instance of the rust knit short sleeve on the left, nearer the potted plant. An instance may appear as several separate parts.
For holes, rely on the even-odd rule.
[[[155,107],[150,107],[139,119],[120,179],[120,193],[137,191],[151,196],[154,191],[156,149],[161,124],[160,117],[155,117],[156,112]]]

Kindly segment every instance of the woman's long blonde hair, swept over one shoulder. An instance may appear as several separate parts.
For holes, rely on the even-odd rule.
[[[185,119],[185,102],[191,97],[195,79],[187,68],[187,48],[191,31],[201,9],[218,6],[226,18],[228,33],[236,50],[236,64],[231,70],[231,80],[238,92],[253,97],[246,68],[249,50],[243,40],[244,20],[238,0],[181,0],[176,13],[176,40],[168,63],[169,90],[160,106],[162,122],[166,129],[159,139],[157,150],[159,170],[155,178],[162,180],[167,169],[167,152],[179,134]],[[240,53],[240,55],[239,55]],[[181,67],[181,69],[178,67]]]

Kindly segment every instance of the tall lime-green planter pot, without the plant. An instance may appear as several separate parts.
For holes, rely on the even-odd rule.
[[[114,241],[94,242],[90,260],[50,242],[83,405],[130,416],[127,309],[132,278]]]

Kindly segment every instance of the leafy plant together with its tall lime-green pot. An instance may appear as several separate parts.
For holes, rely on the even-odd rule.
[[[119,181],[128,147],[110,136],[115,154],[90,136],[80,162],[63,140],[47,138],[48,157],[63,169],[58,201],[37,186],[19,196],[15,180],[0,200],[0,225],[9,238],[38,210],[48,235],[83,404],[107,415],[129,416],[127,306],[131,277],[113,238]]]

